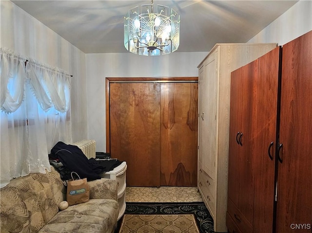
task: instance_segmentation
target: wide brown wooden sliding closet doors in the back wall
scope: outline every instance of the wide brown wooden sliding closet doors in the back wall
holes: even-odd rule
[[[107,78],[107,148],[127,161],[127,186],[196,186],[197,82]]]

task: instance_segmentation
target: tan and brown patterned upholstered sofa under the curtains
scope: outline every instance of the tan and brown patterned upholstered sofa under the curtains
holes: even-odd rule
[[[117,225],[118,181],[89,181],[90,200],[60,211],[66,188],[51,167],[0,189],[1,233],[112,233]]]

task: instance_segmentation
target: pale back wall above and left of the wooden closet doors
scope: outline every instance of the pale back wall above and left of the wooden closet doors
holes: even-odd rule
[[[207,54],[173,53],[154,57],[131,53],[86,54],[88,136],[96,140],[97,151],[106,151],[106,77],[195,77],[197,66]]]

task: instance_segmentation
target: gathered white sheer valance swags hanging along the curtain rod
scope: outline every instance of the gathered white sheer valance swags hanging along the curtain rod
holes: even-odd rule
[[[60,112],[68,110],[71,80],[69,73],[32,58],[26,59],[9,49],[1,48],[0,53],[0,108],[2,111],[11,113],[20,107],[24,99],[26,81],[30,83],[44,111],[51,107]]]

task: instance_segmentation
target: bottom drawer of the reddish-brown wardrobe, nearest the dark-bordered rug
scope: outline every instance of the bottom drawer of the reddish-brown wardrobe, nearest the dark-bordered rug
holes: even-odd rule
[[[253,232],[252,225],[248,222],[246,217],[236,208],[231,199],[228,199],[228,214],[242,233]]]

